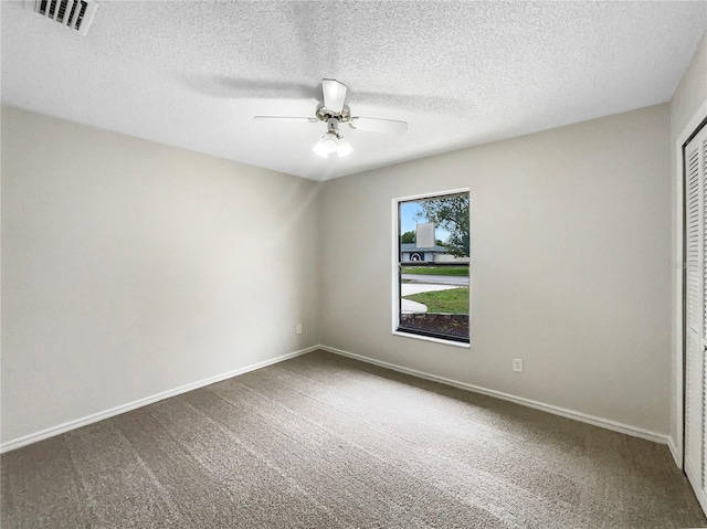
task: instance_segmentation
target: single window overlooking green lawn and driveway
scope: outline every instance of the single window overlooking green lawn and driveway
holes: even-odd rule
[[[469,342],[469,193],[393,201],[393,332]]]

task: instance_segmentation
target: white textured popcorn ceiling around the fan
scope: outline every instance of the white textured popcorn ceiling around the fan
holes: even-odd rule
[[[315,180],[668,100],[707,2],[102,1],[86,38],[0,2],[2,103]],[[352,114],[312,146],[323,77]]]

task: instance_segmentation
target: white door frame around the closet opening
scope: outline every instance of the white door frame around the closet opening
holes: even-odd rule
[[[686,248],[685,248],[685,147],[689,140],[707,126],[707,99],[699,106],[675,141],[675,255],[671,263],[673,274],[673,292],[675,305],[673,311],[673,359],[675,364],[675,417],[676,437],[668,437],[668,447],[675,464],[685,472],[685,287],[686,287]]]

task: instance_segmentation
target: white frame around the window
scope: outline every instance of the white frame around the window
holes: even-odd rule
[[[400,214],[400,209],[399,209],[399,204],[400,202],[410,202],[413,200],[423,200],[423,199],[433,199],[435,197],[445,197],[447,194],[461,194],[461,193],[468,193],[469,197],[469,215],[468,215],[468,232],[469,232],[469,236],[472,233],[472,215],[471,215],[471,209],[472,209],[472,192],[469,190],[469,188],[462,188],[462,189],[452,189],[452,190],[445,190],[445,191],[436,191],[436,192],[429,192],[429,193],[421,193],[421,194],[412,194],[409,197],[400,197],[397,199],[392,200],[392,263],[391,263],[391,271],[392,271],[392,334],[394,336],[400,336],[403,338],[411,338],[413,340],[422,340],[422,341],[432,341],[435,343],[443,343],[445,346],[452,346],[452,347],[461,347],[464,349],[469,349],[472,347],[472,262],[469,260],[468,263],[468,281],[469,281],[469,299],[468,299],[468,307],[469,307],[469,337],[468,337],[468,343],[463,342],[463,341],[455,341],[455,340],[445,340],[444,338],[435,338],[432,336],[423,336],[423,335],[414,335],[412,332],[402,332],[399,331],[398,328],[400,327],[400,273],[399,273],[399,258],[400,258],[400,219],[399,219],[399,214]]]

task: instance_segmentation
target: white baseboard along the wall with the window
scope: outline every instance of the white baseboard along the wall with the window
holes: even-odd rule
[[[525,399],[523,396],[516,396],[508,393],[503,393],[500,391],[482,388],[479,385],[467,384],[466,382],[460,382],[457,380],[446,379],[444,377],[437,377],[436,374],[425,373],[423,371],[418,371],[415,369],[403,368],[394,363],[383,362],[381,360],[376,360],[373,358],[363,357],[362,355],[356,355],[354,352],[344,351],[341,349],[335,349],[334,347],[320,346],[319,348],[325,351],[333,352],[335,355],[341,355],[344,357],[355,358],[356,360],[360,360],[362,362],[380,366],[381,368],[392,369],[393,371],[411,374],[413,377],[418,377],[421,379],[431,380],[433,382],[440,382],[442,384],[452,385],[454,388],[460,388],[467,391],[473,391],[475,393],[482,393],[488,396],[495,396],[497,399],[503,399],[505,401],[515,402],[516,404],[521,404],[524,406],[534,408],[536,410],[552,413],[553,415],[560,415],[562,417],[573,419],[574,421],[592,424],[594,426],[612,430],[614,432],[632,435],[634,437],[641,437],[647,441],[653,441],[655,443],[669,445],[669,437],[667,435],[664,435],[657,432],[652,432],[650,430],[640,429],[636,426],[631,426],[629,424],[623,424],[616,421],[612,421],[610,419],[597,417],[594,415],[589,415],[587,413],[577,412],[573,410],[567,410],[564,408],[555,406],[552,404],[545,404],[542,402],[532,401],[530,399]]]

